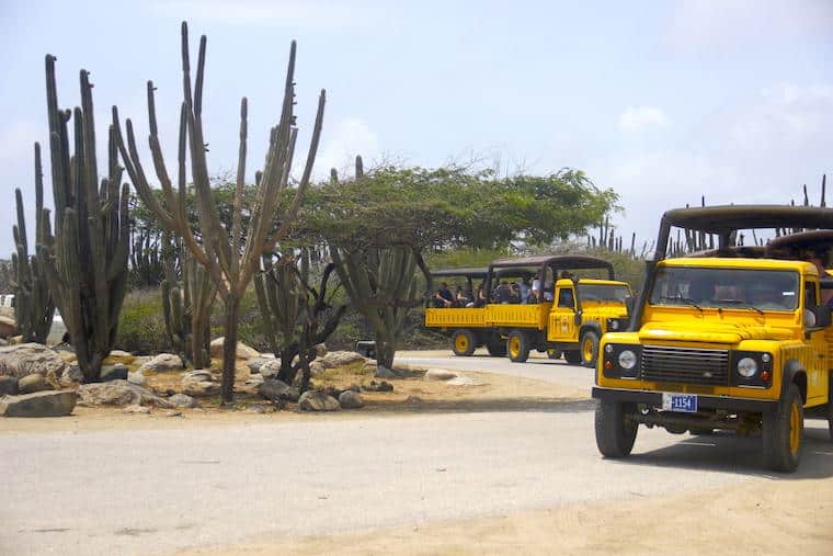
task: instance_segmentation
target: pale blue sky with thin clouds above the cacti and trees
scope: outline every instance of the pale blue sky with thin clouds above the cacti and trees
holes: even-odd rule
[[[319,175],[356,152],[421,166],[476,157],[504,172],[570,166],[620,193],[626,235],[652,237],[664,209],[703,193],[786,202],[833,170],[826,0],[0,0],[0,253],[12,249],[15,186],[33,217],[32,144],[47,141],[44,55],[58,57],[62,106],[79,102],[78,70],[92,72],[100,137],[112,104],[146,137],[153,79],[173,159],[183,19],[194,50],[208,35],[214,171],[236,163],[242,95],[251,173],[262,162],[292,38],[301,144],[317,90],[328,91]],[[50,186],[47,171],[47,202]]]

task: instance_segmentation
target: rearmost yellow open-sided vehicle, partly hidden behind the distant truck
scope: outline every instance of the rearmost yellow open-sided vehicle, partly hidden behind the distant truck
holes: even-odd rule
[[[491,325],[486,322],[486,299],[478,302],[478,285],[486,286],[489,269],[443,269],[431,273],[434,282],[456,282],[465,284],[465,291],[472,295],[470,307],[455,304],[453,307],[426,307],[425,327],[436,328],[452,337],[452,351],[455,355],[467,356],[486,345],[489,354],[506,354],[506,342]],[[429,304],[431,305],[431,299]]]

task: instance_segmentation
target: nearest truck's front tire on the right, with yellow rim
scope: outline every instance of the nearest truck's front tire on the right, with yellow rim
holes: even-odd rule
[[[798,386],[790,384],[775,411],[763,418],[764,461],[779,473],[798,468],[803,447],[805,408]]]

